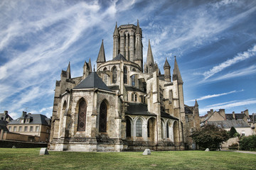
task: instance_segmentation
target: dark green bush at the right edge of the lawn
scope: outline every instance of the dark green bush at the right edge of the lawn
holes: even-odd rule
[[[256,151],[256,135],[242,137],[239,145],[241,150]]]

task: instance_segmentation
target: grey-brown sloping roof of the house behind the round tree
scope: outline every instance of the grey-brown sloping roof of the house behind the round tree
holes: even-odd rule
[[[245,120],[222,120],[222,121],[209,121],[208,124],[215,125],[220,128],[250,128]]]

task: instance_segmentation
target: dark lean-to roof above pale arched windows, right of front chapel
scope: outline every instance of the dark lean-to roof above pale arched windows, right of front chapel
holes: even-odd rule
[[[127,107],[127,115],[153,115],[154,113],[150,113],[147,109],[147,105],[144,103],[128,103]]]

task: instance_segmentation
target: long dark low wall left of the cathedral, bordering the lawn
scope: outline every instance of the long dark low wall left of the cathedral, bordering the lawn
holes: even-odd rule
[[[0,140],[0,147],[11,148],[15,146],[16,148],[31,148],[31,147],[47,147],[47,143],[38,142],[21,142],[13,140]]]

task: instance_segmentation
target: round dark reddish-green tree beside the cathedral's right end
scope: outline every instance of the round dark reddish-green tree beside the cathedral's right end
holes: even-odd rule
[[[192,139],[199,145],[199,149],[209,148],[210,150],[220,149],[220,144],[229,139],[228,132],[215,125],[205,125],[203,128],[195,130]]]

